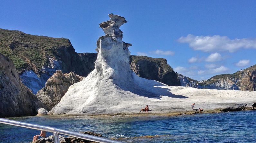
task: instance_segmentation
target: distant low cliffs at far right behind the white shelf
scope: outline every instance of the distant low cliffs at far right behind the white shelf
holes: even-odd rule
[[[205,81],[196,81],[180,74],[178,76],[181,80],[181,86],[201,89],[256,91],[256,65],[233,74],[215,75]]]

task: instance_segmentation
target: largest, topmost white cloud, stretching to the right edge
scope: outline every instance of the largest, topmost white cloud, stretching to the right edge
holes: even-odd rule
[[[189,34],[186,37],[180,37],[178,42],[188,43],[194,50],[200,50],[203,52],[235,52],[240,48],[256,49],[256,38],[236,38],[231,40],[227,36],[194,36]]]

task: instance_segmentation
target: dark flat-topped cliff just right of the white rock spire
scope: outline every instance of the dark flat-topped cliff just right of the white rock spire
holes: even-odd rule
[[[152,79],[169,86],[180,86],[180,79],[163,58],[130,56],[130,68],[139,77]]]

